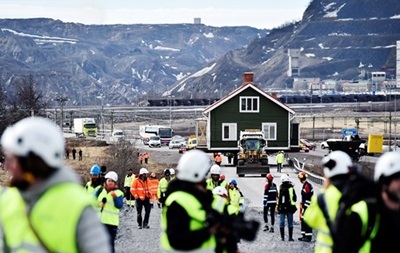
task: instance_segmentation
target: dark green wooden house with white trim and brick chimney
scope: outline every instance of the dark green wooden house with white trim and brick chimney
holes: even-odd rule
[[[295,112],[253,83],[253,73],[243,74],[243,84],[205,108],[197,121],[198,148],[208,152],[238,151],[240,131],[260,129],[269,153],[299,150],[299,124]]]

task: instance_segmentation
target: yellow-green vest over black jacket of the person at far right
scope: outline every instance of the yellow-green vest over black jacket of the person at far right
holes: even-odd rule
[[[380,216],[376,215],[375,217],[375,223],[374,227],[372,228],[372,231],[370,232],[370,235],[367,235],[367,229],[368,229],[368,219],[369,214],[368,214],[368,206],[367,203],[362,200],[360,202],[357,202],[356,204],[352,205],[350,210],[354,213],[357,213],[358,216],[361,219],[361,236],[366,237],[366,240],[360,250],[358,251],[359,253],[369,253],[371,251],[371,240],[375,238],[378,228],[379,228],[379,222],[380,222]]]

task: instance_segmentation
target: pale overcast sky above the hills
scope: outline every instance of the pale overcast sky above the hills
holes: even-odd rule
[[[0,0],[0,18],[83,24],[176,24],[274,28],[300,20],[311,0]]]

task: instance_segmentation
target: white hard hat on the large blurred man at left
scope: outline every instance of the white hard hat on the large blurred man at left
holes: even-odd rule
[[[8,127],[1,137],[3,149],[16,156],[30,152],[52,168],[64,165],[65,140],[60,128],[47,118],[29,117]]]

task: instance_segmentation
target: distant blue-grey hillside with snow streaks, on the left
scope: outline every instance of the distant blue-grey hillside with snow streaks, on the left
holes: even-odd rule
[[[267,30],[252,27],[83,25],[52,19],[0,19],[0,83],[11,97],[32,75],[68,105],[129,105],[160,96],[177,80]]]

